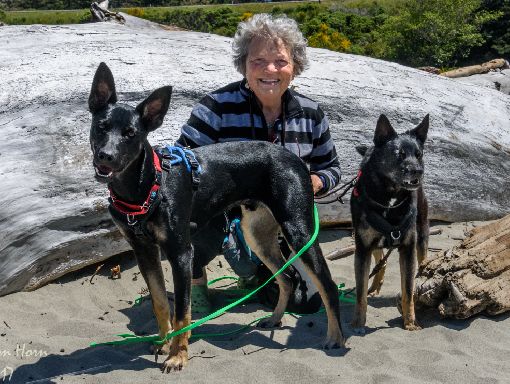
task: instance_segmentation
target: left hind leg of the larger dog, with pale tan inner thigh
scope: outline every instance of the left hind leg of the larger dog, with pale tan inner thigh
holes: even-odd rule
[[[244,239],[252,251],[274,274],[285,264],[278,244],[279,225],[269,209],[259,205],[255,211],[242,206],[241,228]],[[280,295],[271,317],[261,320],[257,326],[272,328],[279,326],[292,292],[292,282],[283,273],[276,276]]]

